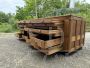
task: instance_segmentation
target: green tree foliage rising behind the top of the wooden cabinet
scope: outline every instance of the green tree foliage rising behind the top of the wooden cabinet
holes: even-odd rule
[[[24,7],[17,7],[16,18],[18,20],[41,18],[48,16],[59,16],[65,14],[75,14],[79,16],[87,16],[90,12],[90,4],[77,1],[76,8],[70,9],[70,0],[24,0]],[[87,8],[86,8],[87,7]],[[87,11],[86,11],[87,10]],[[90,14],[86,17],[89,21]]]

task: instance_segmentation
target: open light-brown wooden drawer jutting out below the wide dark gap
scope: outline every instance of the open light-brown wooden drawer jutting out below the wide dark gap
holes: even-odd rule
[[[44,36],[45,37],[45,36]],[[39,37],[32,37],[30,36],[30,44],[33,47],[39,47],[40,49],[46,49],[56,45],[62,45],[63,41],[62,38],[54,38],[54,39],[46,39],[46,38],[39,38]]]

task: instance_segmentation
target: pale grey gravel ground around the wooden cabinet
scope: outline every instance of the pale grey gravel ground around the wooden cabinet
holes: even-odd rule
[[[90,68],[90,33],[82,50],[70,56],[45,56],[17,40],[14,34],[0,33],[0,68]]]

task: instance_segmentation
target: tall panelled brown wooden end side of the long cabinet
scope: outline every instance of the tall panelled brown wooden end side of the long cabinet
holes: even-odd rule
[[[63,51],[73,52],[82,48],[85,39],[85,22],[82,18],[71,16],[64,23]]]

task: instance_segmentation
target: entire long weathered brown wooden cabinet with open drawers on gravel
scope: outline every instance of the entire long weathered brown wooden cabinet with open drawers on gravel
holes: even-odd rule
[[[84,45],[85,21],[81,17],[67,15],[26,20],[20,21],[18,27],[19,39],[46,55],[71,53]]]

